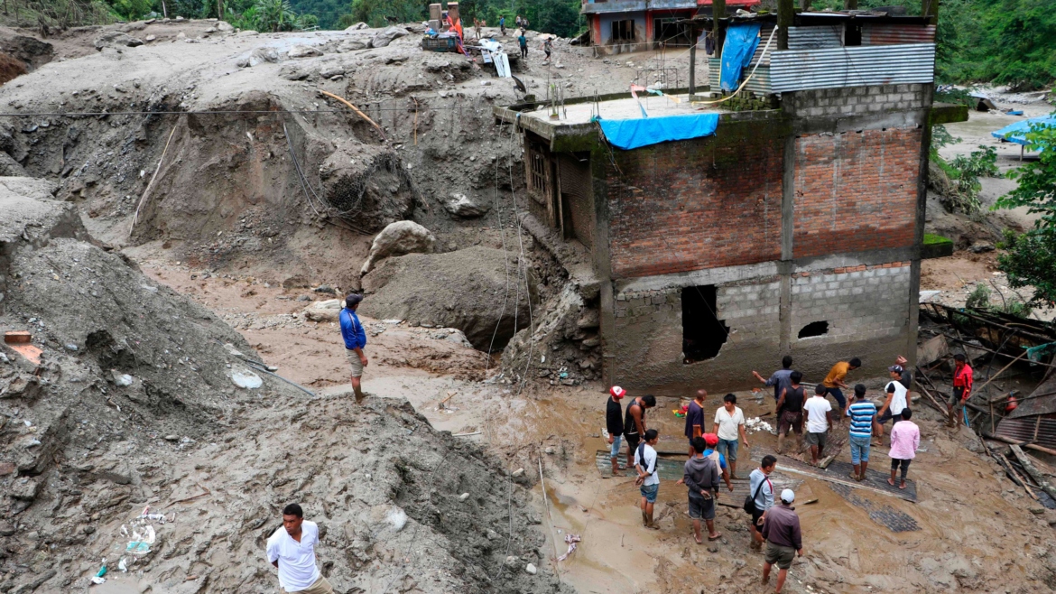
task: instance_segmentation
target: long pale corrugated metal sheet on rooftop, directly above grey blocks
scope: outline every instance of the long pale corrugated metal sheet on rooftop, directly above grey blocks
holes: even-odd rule
[[[935,43],[775,52],[773,92],[935,80]]]

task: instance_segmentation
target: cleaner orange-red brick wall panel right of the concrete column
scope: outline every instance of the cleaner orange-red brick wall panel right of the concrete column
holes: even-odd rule
[[[921,130],[796,138],[796,258],[913,244]]]

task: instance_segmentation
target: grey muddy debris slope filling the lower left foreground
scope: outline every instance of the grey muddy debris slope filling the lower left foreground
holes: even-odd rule
[[[0,330],[32,335],[0,347],[0,592],[87,591],[103,558],[139,591],[274,590],[290,501],[343,592],[561,591],[509,469],[406,401],[270,375],[53,191],[0,178]]]

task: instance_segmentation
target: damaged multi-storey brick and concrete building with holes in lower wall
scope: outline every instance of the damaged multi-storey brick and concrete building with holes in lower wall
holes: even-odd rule
[[[605,382],[681,393],[758,385],[751,371],[785,354],[809,382],[854,356],[862,377],[913,357],[930,126],[967,117],[932,104],[937,17],[782,0],[720,23],[720,51],[725,26],[759,30],[750,96],[495,109],[523,134],[526,227],[591,264],[566,267],[598,289]],[[602,133],[709,113],[710,135],[621,149]]]

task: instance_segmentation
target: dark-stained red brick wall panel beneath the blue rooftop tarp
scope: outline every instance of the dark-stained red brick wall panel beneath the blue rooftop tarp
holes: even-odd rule
[[[719,134],[614,152],[612,278],[780,258],[784,138]]]

